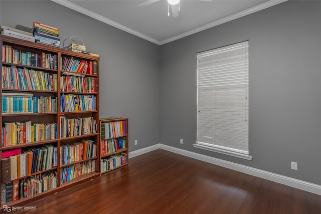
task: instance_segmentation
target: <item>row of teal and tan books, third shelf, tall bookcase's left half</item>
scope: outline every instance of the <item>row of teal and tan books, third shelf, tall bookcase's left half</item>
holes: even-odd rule
[[[57,112],[57,97],[24,93],[2,93],[2,113],[48,113]]]

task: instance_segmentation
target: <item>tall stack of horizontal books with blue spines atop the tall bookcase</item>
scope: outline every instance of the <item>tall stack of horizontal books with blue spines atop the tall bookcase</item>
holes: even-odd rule
[[[34,22],[32,33],[36,43],[60,48],[60,39],[58,38],[59,33],[57,28]]]

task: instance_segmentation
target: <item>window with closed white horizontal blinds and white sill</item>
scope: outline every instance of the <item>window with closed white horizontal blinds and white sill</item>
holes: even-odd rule
[[[248,41],[197,54],[194,147],[251,160]]]

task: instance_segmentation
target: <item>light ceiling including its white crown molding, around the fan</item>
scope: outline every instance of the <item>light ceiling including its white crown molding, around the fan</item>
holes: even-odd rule
[[[179,16],[168,16],[166,0],[145,7],[138,0],[52,0],[157,45],[192,35],[286,0],[181,0]],[[171,11],[170,11],[171,13]]]

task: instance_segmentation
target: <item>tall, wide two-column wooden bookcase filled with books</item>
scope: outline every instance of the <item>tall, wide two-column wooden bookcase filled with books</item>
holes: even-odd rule
[[[1,208],[3,205],[23,205],[98,177],[99,57],[3,35],[0,36],[0,41],[1,47],[9,46],[12,51],[9,53],[10,48],[2,49],[2,53],[5,51],[7,55],[14,56],[9,62],[6,57],[1,61],[1,186],[5,187],[8,195],[15,193],[14,197],[17,198],[17,188],[20,189],[18,194],[22,194],[18,195],[18,199],[1,202]],[[27,55],[27,62],[17,62],[17,56],[24,53],[31,53],[31,58]],[[70,71],[65,67],[66,59],[83,60],[89,66],[93,64],[92,74],[79,73],[80,70],[77,69],[75,71],[79,72]],[[22,61],[24,60],[23,58]],[[32,106],[29,106],[31,103]],[[23,130],[18,131],[17,128]],[[17,150],[18,155],[12,155],[18,160],[10,157],[11,160],[8,161],[8,158],[3,158]],[[28,158],[30,151],[33,153],[33,159]],[[38,160],[34,159],[35,156]],[[26,165],[23,164],[25,161]],[[13,164],[10,165],[11,163]],[[38,185],[29,188],[35,182],[38,182]]]

